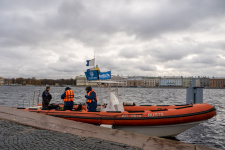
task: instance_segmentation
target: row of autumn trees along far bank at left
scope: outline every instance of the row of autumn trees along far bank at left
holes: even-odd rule
[[[20,84],[20,85],[76,85],[75,79],[36,79],[33,78],[5,78],[5,84]]]

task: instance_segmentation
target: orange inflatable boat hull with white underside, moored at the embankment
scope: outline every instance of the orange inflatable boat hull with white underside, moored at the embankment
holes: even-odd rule
[[[24,109],[30,112],[80,121],[95,125],[111,125],[114,128],[138,132],[150,136],[176,136],[179,133],[212,118],[216,109],[210,104],[182,106],[124,106],[125,111],[87,112],[85,106],[75,110]]]

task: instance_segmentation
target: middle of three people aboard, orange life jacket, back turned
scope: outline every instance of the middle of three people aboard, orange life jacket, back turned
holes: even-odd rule
[[[70,87],[66,87],[65,92],[61,95],[61,99],[64,102],[64,110],[72,110],[73,109],[73,98],[74,92]]]

